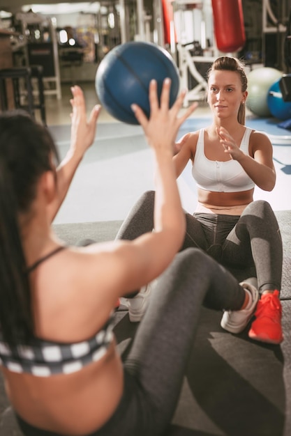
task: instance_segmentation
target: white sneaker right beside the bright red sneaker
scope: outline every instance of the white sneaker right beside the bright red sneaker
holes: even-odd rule
[[[241,311],[225,311],[223,313],[223,318],[221,319],[221,327],[231,333],[240,333],[244,330],[248,321],[251,320],[253,313],[255,313],[255,308],[258,303],[259,293],[258,289],[253,286],[255,279],[247,279],[240,283],[240,285],[249,291],[251,294],[251,302],[248,302],[246,309]]]

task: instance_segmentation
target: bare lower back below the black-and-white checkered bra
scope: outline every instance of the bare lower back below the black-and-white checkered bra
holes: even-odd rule
[[[81,436],[102,427],[116,410],[124,389],[121,359],[107,354],[70,375],[35,377],[3,368],[6,391],[15,411],[33,426]]]

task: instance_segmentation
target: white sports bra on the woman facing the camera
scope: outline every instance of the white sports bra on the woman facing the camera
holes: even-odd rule
[[[252,129],[246,127],[241,139],[240,149],[248,153],[248,143]],[[199,132],[192,175],[197,187],[212,192],[241,192],[255,187],[255,183],[248,177],[246,171],[236,160],[220,162],[210,160],[204,154],[204,129]]]

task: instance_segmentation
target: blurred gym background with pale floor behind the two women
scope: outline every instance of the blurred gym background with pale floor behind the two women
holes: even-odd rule
[[[61,156],[70,140],[70,87],[82,87],[90,111],[98,103],[98,65],[117,45],[152,42],[172,56],[181,87],[188,88],[184,107],[199,102],[181,134],[209,124],[205,93],[212,61],[224,54],[242,59],[246,124],[270,135],[277,171],[276,189],[256,189],[255,198],[274,210],[291,209],[291,0],[0,1],[0,111],[27,109],[50,128]],[[105,109],[98,124],[55,222],[124,219],[140,194],[153,189],[140,126],[121,123]],[[193,212],[189,166],[178,182],[184,207]]]

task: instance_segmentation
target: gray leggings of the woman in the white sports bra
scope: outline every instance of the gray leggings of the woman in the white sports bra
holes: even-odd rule
[[[117,239],[133,240],[154,228],[154,191],[145,192],[121,226]],[[253,201],[241,216],[186,213],[181,250],[197,247],[239,281],[258,278],[258,288],[281,290],[283,247],[278,222],[267,201]]]

